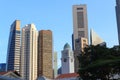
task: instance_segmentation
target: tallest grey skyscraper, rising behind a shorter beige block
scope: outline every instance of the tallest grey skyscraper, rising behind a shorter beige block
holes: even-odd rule
[[[88,39],[88,22],[86,5],[73,5],[73,48],[75,41],[84,37]]]

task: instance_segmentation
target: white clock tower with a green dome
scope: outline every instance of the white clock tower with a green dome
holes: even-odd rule
[[[62,74],[74,73],[74,55],[70,45],[66,43],[62,50]]]

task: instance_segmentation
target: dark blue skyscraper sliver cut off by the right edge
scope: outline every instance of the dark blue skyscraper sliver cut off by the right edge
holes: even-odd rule
[[[118,41],[120,45],[120,0],[116,0],[116,17],[117,17],[117,28],[118,28]]]

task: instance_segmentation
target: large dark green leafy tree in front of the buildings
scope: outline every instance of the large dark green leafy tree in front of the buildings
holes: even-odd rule
[[[120,74],[120,47],[90,45],[78,59],[78,73],[83,80],[109,80],[114,74]]]

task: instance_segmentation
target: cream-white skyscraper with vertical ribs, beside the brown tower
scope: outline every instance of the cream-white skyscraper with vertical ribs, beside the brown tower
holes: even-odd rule
[[[22,28],[20,74],[24,80],[37,79],[38,31],[34,24]]]

